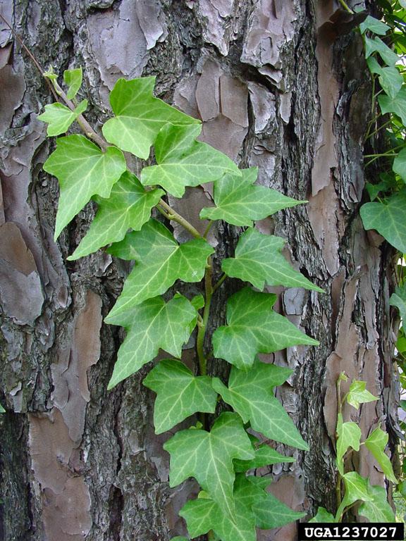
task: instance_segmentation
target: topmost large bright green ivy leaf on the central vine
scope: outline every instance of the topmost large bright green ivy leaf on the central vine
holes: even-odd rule
[[[155,77],[126,81],[118,79],[110,94],[114,118],[102,130],[109,143],[146,160],[149,147],[167,123],[195,124],[199,120],[185,115],[153,95]]]

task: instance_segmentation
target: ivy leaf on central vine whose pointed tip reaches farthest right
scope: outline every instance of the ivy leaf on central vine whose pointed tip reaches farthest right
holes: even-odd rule
[[[221,268],[231,278],[251,282],[259,290],[267,284],[323,292],[290,266],[281,254],[284,244],[281,237],[262,235],[256,229],[248,229],[238,240],[235,257],[224,259]]]

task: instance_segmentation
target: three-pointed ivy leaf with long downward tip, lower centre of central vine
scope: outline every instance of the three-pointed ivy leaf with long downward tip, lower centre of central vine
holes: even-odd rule
[[[233,459],[254,458],[250,438],[236,413],[221,413],[211,432],[181,430],[164,449],[171,454],[171,487],[194,477],[223,513],[235,516]]]

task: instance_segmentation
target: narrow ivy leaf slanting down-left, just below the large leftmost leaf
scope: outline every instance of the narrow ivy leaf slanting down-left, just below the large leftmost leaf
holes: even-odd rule
[[[145,191],[137,177],[125,171],[113,185],[109,199],[96,198],[99,206],[97,214],[89,231],[68,259],[73,261],[106,244],[118,242],[129,229],[140,230],[162,195],[164,191],[161,189]]]

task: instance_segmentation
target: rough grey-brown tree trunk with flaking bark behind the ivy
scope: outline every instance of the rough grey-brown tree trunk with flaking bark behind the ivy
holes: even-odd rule
[[[118,77],[156,75],[156,94],[202,118],[206,142],[258,166],[262,184],[309,200],[257,224],[285,237],[288,259],[326,291],[278,290],[278,309],[321,342],[274,356],[294,370],[278,396],[311,451],[274,466],[271,490],[309,516],[336,505],[340,371],[381,397],[361,409],[363,435],[379,420],[397,430],[391,254],[358,213],[369,77],[361,39],[338,9],[334,0],[0,0],[42,66],[83,66],[96,127]],[[154,435],[146,371],[106,392],[123,335],[102,318],[128,268],[102,251],[66,261],[92,205],[54,242],[58,187],[42,171],[54,143],[37,120],[51,95],[3,23],[0,46],[0,539],[167,541],[185,533],[178,511],[196,485],[168,488],[168,434]],[[193,194],[180,210],[199,223],[210,196]],[[221,254],[233,253],[239,233],[214,232]],[[214,299],[216,322],[233,288],[230,280]],[[363,452],[355,466],[384,484]],[[259,539],[293,540],[295,528]]]

